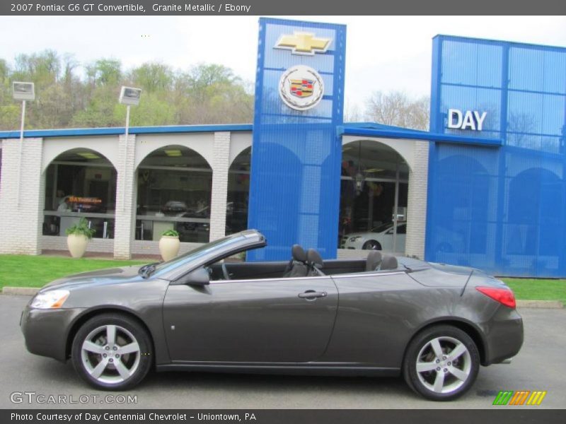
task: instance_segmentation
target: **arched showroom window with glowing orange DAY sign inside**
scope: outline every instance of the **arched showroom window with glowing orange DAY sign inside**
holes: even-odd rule
[[[103,155],[86,148],[66,151],[45,171],[43,235],[88,220],[93,237],[113,238],[116,208],[116,170]]]

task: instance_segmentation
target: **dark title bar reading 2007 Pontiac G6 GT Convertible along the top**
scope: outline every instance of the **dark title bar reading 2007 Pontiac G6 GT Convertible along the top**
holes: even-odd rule
[[[2,0],[8,16],[562,15],[564,0]]]

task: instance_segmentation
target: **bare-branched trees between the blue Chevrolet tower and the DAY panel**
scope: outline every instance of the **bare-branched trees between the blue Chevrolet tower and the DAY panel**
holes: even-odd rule
[[[429,98],[411,99],[403,92],[374,92],[366,103],[366,119],[403,128],[429,129]]]

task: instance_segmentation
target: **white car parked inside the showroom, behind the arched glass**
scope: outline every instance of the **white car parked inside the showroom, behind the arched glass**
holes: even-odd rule
[[[395,251],[405,252],[407,223],[397,224]],[[385,223],[369,232],[352,232],[342,236],[340,249],[386,250],[393,252],[393,223]]]

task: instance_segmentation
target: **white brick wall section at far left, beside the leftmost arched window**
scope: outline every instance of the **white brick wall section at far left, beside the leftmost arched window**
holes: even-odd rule
[[[42,139],[2,143],[0,253],[40,254],[45,194],[42,192]]]

